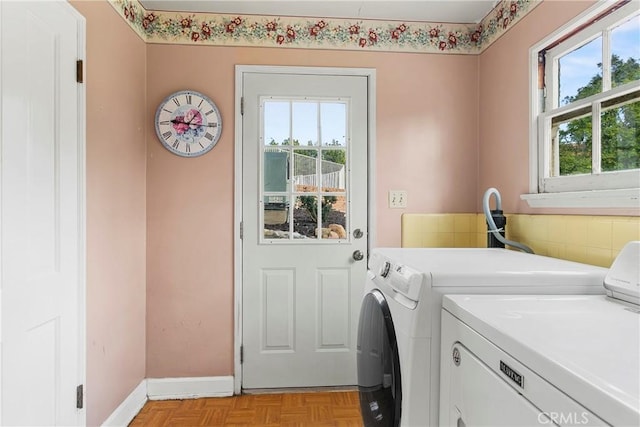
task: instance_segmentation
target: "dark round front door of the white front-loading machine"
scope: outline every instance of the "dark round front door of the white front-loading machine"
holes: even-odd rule
[[[402,388],[396,333],[384,295],[365,295],[358,323],[358,391],[365,426],[400,425]]]

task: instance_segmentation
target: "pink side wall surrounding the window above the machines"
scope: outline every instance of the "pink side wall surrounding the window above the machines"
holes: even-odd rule
[[[496,187],[508,213],[637,215],[634,209],[533,209],[529,192],[529,48],[593,1],[547,0],[480,55],[480,179],[476,195]]]

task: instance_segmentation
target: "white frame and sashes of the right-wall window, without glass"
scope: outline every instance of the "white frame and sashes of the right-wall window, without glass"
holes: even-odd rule
[[[569,176],[551,175],[551,121],[554,117],[591,108],[594,118],[594,135],[600,129],[600,105],[610,99],[633,93],[640,89],[640,82],[610,88],[611,68],[610,46],[603,39],[603,91],[558,107],[558,59],[597,38],[603,31],[610,34],[609,29],[620,22],[636,15],[633,2],[629,2],[606,16],[596,18],[612,7],[611,2],[600,1],[572,21],[550,34],[529,50],[530,81],[530,194],[521,195],[532,207],[638,207],[640,206],[640,170],[600,172],[599,136],[594,138],[593,148],[598,154],[593,156],[596,173]],[[584,27],[581,29],[581,27]],[[551,47],[550,47],[551,46]],[[549,48],[550,47],[550,48]],[[547,50],[546,64],[541,62],[539,53]],[[547,78],[546,89],[539,88],[540,68],[545,68]],[[547,93],[545,94],[545,90]],[[546,96],[544,96],[546,95]],[[546,104],[546,105],[545,105]],[[545,108],[546,107],[546,108]],[[546,111],[545,111],[546,109]],[[596,129],[597,128],[597,129]]]

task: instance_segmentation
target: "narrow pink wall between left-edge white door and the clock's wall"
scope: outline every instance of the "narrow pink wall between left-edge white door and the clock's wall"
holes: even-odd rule
[[[87,424],[145,377],[145,44],[106,2],[87,20]]]

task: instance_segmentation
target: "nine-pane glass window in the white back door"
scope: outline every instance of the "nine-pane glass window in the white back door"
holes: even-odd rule
[[[261,110],[261,241],[346,239],[348,101],[263,97]]]

